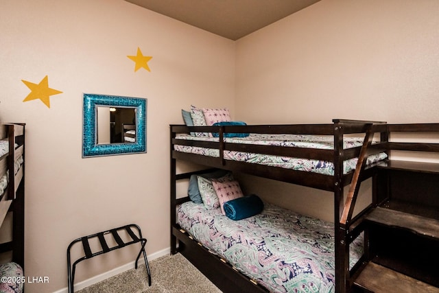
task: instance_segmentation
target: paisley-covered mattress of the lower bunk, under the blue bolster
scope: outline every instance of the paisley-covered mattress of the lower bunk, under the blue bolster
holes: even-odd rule
[[[230,220],[220,209],[185,202],[178,224],[211,252],[270,292],[335,292],[334,226],[265,203],[261,213]],[[350,247],[351,266],[363,239]]]

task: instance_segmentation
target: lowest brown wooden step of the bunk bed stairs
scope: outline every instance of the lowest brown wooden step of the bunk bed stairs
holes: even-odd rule
[[[439,293],[439,288],[372,262],[364,268],[355,284],[375,293]]]

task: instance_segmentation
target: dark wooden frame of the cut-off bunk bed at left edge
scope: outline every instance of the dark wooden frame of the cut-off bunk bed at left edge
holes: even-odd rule
[[[3,124],[9,142],[9,152],[0,157],[0,164],[9,171],[9,183],[0,195],[0,226],[6,215],[12,212],[12,240],[0,244],[0,253],[12,251],[12,261],[18,263],[24,271],[24,209],[25,209],[25,172],[24,163],[19,172],[14,174],[14,161],[25,156],[25,124]],[[15,145],[18,145],[15,147]]]

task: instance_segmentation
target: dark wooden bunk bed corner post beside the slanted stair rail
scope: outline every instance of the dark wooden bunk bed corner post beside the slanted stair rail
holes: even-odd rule
[[[335,292],[346,293],[348,279],[348,259],[346,250],[346,231],[340,226],[340,215],[344,207],[343,186],[343,123],[337,119],[334,123],[334,235],[335,235]]]

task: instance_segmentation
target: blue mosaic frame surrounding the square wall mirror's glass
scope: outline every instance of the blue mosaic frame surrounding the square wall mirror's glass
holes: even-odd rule
[[[134,143],[97,143],[97,106],[134,108],[136,141]],[[147,99],[117,95],[83,94],[82,157],[111,156],[146,152]]]

